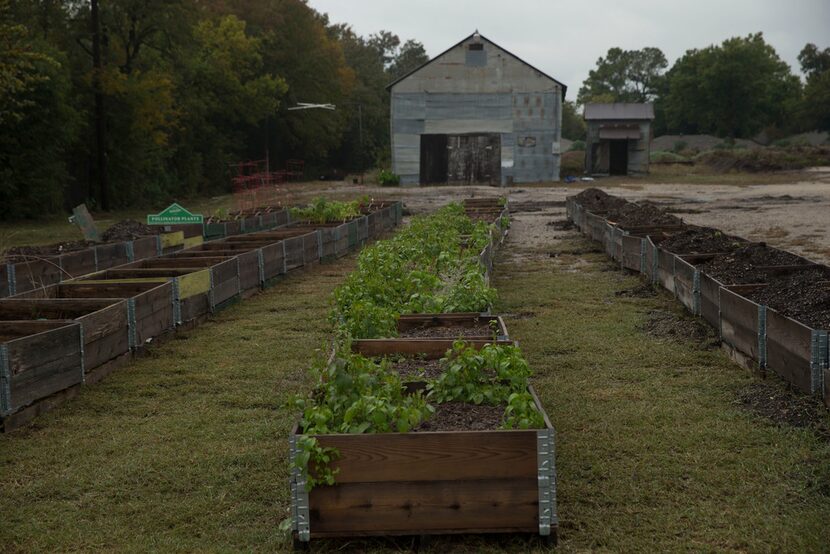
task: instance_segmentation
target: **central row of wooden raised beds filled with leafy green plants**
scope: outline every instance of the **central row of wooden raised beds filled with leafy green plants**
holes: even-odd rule
[[[490,313],[497,199],[413,218],[334,292],[331,356],[297,398],[295,546],[326,537],[556,536],[553,427]],[[288,523],[288,522],[287,522]]]

